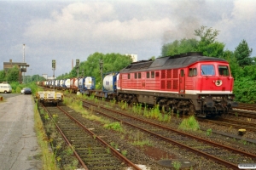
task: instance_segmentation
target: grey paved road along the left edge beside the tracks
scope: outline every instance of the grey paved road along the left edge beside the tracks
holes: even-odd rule
[[[0,170],[42,169],[32,95],[0,95]]]

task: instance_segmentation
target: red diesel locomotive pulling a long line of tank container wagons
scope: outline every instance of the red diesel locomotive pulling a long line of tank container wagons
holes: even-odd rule
[[[95,90],[93,77],[39,83],[201,117],[221,116],[237,105],[229,63],[195,52],[133,62],[104,75],[102,90]]]

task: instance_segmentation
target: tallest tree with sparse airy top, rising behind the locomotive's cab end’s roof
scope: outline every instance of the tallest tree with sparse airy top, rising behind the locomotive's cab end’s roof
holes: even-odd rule
[[[201,26],[200,29],[195,30],[195,36],[200,37],[200,41],[196,48],[197,51],[202,52],[203,55],[209,57],[220,57],[224,53],[224,43],[217,42],[217,30]]]

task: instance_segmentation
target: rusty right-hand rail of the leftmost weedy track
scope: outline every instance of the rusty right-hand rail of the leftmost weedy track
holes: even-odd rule
[[[90,135],[94,138],[97,139],[98,141],[100,141],[104,146],[108,147],[114,156],[118,157],[120,161],[123,161],[126,163],[126,165],[133,167],[136,170],[141,170],[140,167],[137,167],[137,165],[135,165],[134,163],[132,163],[129,159],[127,159],[125,156],[123,156],[122,154],[120,154],[117,150],[115,150],[111,145],[109,145],[108,143],[106,143],[104,140],[102,140],[101,138],[99,138],[98,136],[96,136],[95,133],[91,132],[90,129],[88,129],[87,127],[84,127],[84,125],[79,122],[78,120],[76,120],[73,116],[69,115],[67,113],[67,111],[64,111],[60,106],[57,106],[57,108],[59,108],[61,111],[63,111],[63,113],[65,113],[71,120],[73,120],[73,122],[77,123],[80,127],[82,127],[84,129],[84,131],[86,131],[87,133],[90,133]]]

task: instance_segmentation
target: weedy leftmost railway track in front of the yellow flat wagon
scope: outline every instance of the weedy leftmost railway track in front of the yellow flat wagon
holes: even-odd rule
[[[84,169],[140,169],[61,107],[44,107]]]

